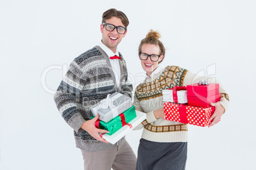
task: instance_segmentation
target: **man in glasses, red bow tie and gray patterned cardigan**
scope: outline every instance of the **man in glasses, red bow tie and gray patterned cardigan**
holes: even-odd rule
[[[117,49],[128,25],[129,20],[122,11],[105,11],[100,45],[75,58],[54,96],[60,114],[74,129],[76,147],[82,151],[85,169],[136,167],[136,156],[125,138],[115,145],[108,143],[99,135],[108,131],[95,126],[99,115],[90,120],[90,107],[108,94],[117,91],[132,96],[125,61]]]

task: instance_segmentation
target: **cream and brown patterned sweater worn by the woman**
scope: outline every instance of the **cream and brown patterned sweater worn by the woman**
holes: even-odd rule
[[[174,86],[187,86],[203,79],[208,79],[208,77],[200,77],[177,66],[167,66],[160,70],[159,73],[146,78],[143,83],[136,87],[134,94],[134,105],[139,111],[146,113],[146,119],[134,129],[143,128],[142,138],[145,140],[156,142],[186,142],[187,124],[167,121],[162,118],[155,119],[153,111],[163,107],[163,89],[173,88]],[[208,79],[208,81],[220,84],[215,79]],[[229,95],[225,93],[221,84],[220,94],[222,98],[219,102],[226,110],[229,104]]]

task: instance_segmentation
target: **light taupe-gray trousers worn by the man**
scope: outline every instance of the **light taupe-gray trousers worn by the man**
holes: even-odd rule
[[[136,155],[126,140],[121,145],[108,150],[97,152],[81,151],[86,170],[136,169]]]

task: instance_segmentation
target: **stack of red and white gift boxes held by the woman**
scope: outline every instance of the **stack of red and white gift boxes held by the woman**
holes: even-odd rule
[[[208,126],[215,107],[210,103],[220,101],[219,84],[200,81],[186,87],[163,90],[164,115],[169,121],[196,126]]]

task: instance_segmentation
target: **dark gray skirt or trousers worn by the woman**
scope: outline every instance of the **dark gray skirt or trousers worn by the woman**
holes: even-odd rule
[[[187,142],[139,141],[137,170],[184,170],[187,161]]]

